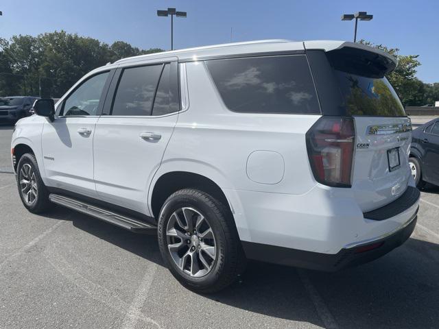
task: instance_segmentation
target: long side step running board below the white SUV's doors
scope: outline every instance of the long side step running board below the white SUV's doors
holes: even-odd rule
[[[49,200],[51,202],[54,202],[54,204],[59,204],[60,206],[82,212],[86,215],[101,219],[102,221],[106,221],[131,232],[156,234],[157,227],[152,224],[119,215],[115,212],[111,212],[109,210],[93,206],[91,204],[86,204],[77,199],[72,199],[71,197],[64,197],[63,195],[58,194],[50,194]]]

